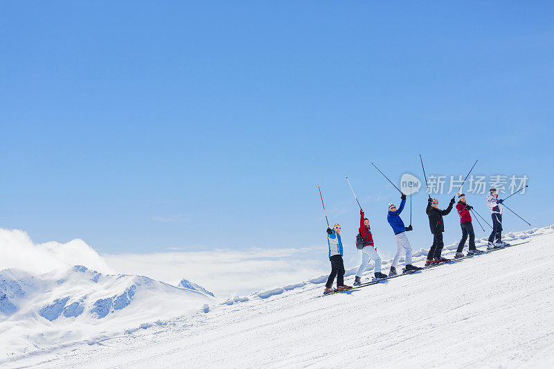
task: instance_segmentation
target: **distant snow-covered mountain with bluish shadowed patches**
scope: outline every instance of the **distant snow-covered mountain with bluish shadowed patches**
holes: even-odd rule
[[[37,276],[5,269],[0,271],[0,355],[121,332],[212,301],[193,289],[143,276],[104,275],[82,265]]]

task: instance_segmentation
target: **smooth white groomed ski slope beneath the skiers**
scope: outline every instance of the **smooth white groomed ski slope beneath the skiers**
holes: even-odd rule
[[[554,226],[506,240],[530,242],[323,298],[312,278],[119,334],[45,337],[0,366],[554,368]]]

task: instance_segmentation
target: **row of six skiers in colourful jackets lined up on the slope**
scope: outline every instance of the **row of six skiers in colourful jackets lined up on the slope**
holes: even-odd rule
[[[492,233],[490,233],[488,239],[488,249],[506,246],[508,244],[506,244],[506,242],[502,242],[501,240],[503,200],[498,198],[497,189],[494,187],[490,188],[490,194],[487,195],[485,199],[487,202],[487,206],[491,212],[493,224]],[[448,215],[452,211],[455,202],[456,196],[452,197],[448,207],[445,210],[440,210],[440,208],[438,208],[438,200],[433,199],[431,198],[431,196],[429,196],[425,213],[427,213],[427,216],[429,217],[429,228],[431,229],[431,234],[433,235],[433,244],[429,249],[429,253],[427,254],[427,260],[425,262],[426,266],[431,264],[441,264],[443,262],[449,261],[448,259],[441,256],[444,247],[443,233],[445,231],[443,216]],[[405,204],[406,195],[404,195],[403,193],[400,201],[400,206],[398,208],[396,208],[394,204],[388,204],[388,213],[386,219],[388,221],[388,224],[391,225],[391,228],[393,228],[397,244],[397,252],[395,257],[393,258],[391,270],[388,273],[389,277],[397,275],[396,268],[400,260],[400,255],[402,254],[402,251],[404,251],[405,254],[404,272],[418,271],[422,269],[421,267],[415,267],[411,264],[412,249],[408,237],[406,237],[406,232],[412,231],[413,228],[411,224],[406,227],[404,225],[404,222],[402,222],[402,218],[400,218],[400,213],[402,213],[402,210],[404,210]],[[454,256],[454,258],[461,258],[464,256],[462,253],[463,246],[465,245],[468,237],[470,239],[468,254],[474,255],[477,253],[483,253],[483,251],[480,251],[475,246],[475,232],[473,230],[472,216],[470,213],[470,210],[472,210],[472,208],[472,206],[467,204],[465,194],[458,194],[458,204],[456,204],[456,210],[458,211],[458,215],[460,216],[462,238],[458,244],[458,249],[456,250],[456,255]],[[366,271],[366,267],[370,260],[373,260],[375,264],[375,278],[381,279],[387,277],[386,274],[382,273],[381,271],[381,256],[377,252],[377,247],[375,247],[375,244],[373,242],[373,235],[370,231],[369,219],[365,217],[364,210],[362,210],[361,208],[359,213],[360,225],[359,233],[356,237],[356,246],[357,249],[361,249],[361,264],[356,273],[356,278],[354,281],[355,286],[361,285],[361,276],[364,271]],[[323,291],[324,294],[329,294],[330,292],[334,291],[334,289],[332,289],[332,285],[335,278],[337,278],[337,291],[343,291],[352,288],[351,286],[344,284],[345,270],[342,259],[343,246],[340,235],[340,224],[334,224],[333,228],[328,227],[327,233],[329,245],[329,260],[331,261],[331,273],[329,275],[327,283],[325,284],[325,290]]]

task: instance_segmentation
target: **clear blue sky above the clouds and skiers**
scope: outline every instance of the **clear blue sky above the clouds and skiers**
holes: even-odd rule
[[[476,174],[526,174],[510,207],[552,224],[553,10],[3,2],[0,224],[100,253],[321,245],[325,262],[316,185],[352,245],[348,174],[390,257],[398,195],[370,162],[398,181],[421,177],[419,154],[427,174],[476,159]],[[468,201],[489,219],[483,196]],[[425,205],[413,197],[414,249],[431,244]],[[504,228],[529,227],[506,213]]]

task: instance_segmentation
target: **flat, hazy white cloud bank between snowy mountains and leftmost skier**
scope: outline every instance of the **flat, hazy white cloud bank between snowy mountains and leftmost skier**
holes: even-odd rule
[[[226,298],[233,294],[282,287],[328,273],[330,267],[325,262],[325,253],[326,249],[321,251],[321,247],[305,247],[107,254],[103,257],[117,273],[141,274],[172,285],[187,278],[213,291],[216,296]]]

